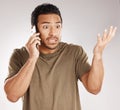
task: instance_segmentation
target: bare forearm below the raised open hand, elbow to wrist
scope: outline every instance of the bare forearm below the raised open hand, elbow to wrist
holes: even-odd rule
[[[94,55],[91,70],[87,78],[87,86],[91,92],[98,93],[101,89],[104,77],[102,57]]]

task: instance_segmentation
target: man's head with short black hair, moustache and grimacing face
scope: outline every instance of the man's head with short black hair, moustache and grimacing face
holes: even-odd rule
[[[62,17],[52,4],[37,6],[32,12],[31,24],[40,33],[41,50],[54,51],[61,40]]]

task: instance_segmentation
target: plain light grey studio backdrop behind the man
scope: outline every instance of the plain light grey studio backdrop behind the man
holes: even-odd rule
[[[119,0],[0,0],[0,108],[21,110],[22,101],[9,102],[3,90],[10,55],[30,35],[30,15],[43,2],[57,5],[63,17],[62,41],[82,45],[91,63],[97,34],[117,26],[115,38],[106,47],[105,77],[98,95],[88,93],[79,82],[82,110],[120,110],[120,1]]]

